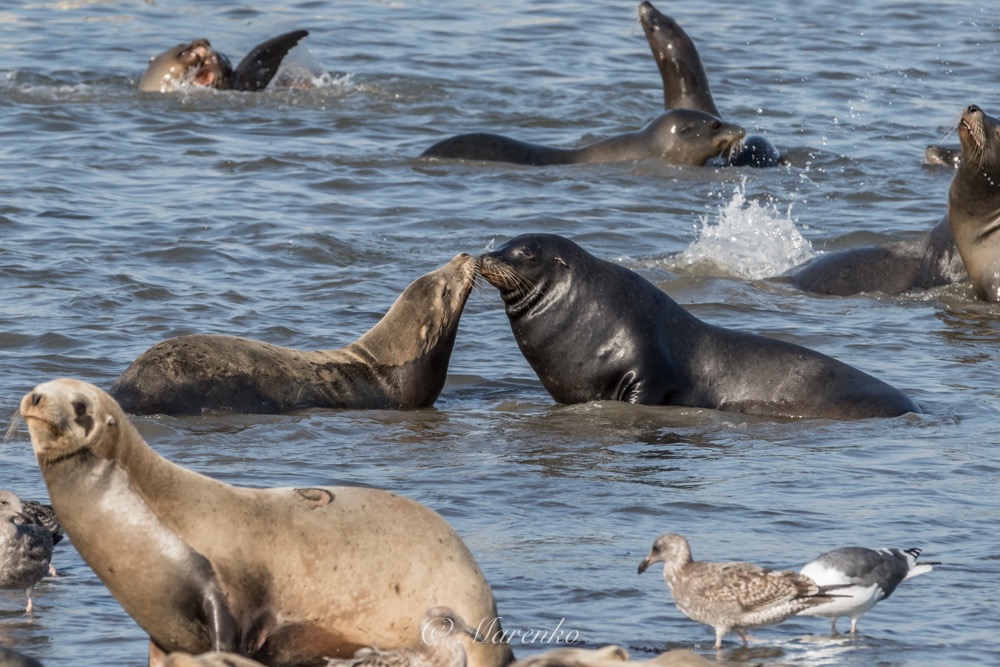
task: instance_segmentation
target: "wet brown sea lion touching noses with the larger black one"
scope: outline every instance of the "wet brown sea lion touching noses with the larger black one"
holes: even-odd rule
[[[139,355],[110,393],[140,415],[428,407],[448,377],[475,275],[475,260],[456,255],[411,283],[368,333],[336,350],[235,336],[171,338]]]

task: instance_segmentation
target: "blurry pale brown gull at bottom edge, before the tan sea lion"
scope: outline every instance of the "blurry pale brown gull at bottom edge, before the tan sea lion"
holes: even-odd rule
[[[418,646],[391,651],[363,648],[347,660],[328,658],[327,667],[465,667],[459,635],[484,641],[449,607],[431,607],[420,620]]]

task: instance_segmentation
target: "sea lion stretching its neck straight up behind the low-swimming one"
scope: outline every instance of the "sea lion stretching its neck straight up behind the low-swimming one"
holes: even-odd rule
[[[657,10],[651,2],[639,3],[639,23],[663,79],[664,108],[698,109],[722,118],[712,99],[708,75],[694,41],[676,21]],[[766,137],[751,136],[738,152],[729,156],[728,164],[774,167],[781,164],[781,156]]]

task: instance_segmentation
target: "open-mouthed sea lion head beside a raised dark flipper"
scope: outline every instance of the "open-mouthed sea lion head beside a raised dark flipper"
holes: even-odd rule
[[[225,89],[232,78],[229,59],[207,39],[196,39],[153,57],[139,81],[139,90],[165,93],[184,85]]]

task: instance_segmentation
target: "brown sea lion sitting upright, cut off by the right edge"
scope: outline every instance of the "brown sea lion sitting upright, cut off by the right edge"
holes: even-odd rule
[[[948,224],[976,296],[1000,301],[1000,119],[970,104],[958,138],[962,160],[948,190]]]

